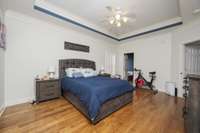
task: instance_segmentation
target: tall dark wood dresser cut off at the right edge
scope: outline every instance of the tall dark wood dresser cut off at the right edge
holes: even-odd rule
[[[186,133],[200,133],[200,75],[188,75],[184,78],[183,108]]]

